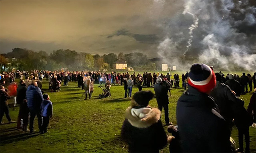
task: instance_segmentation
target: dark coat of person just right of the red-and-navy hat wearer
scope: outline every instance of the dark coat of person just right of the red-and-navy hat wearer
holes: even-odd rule
[[[237,98],[230,88],[219,81],[216,82],[215,88],[211,92],[211,96],[218,105],[220,115],[230,124],[237,113],[236,109],[244,104],[244,102]]]

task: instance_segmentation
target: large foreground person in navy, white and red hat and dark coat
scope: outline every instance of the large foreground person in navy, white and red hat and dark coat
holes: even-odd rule
[[[209,96],[216,85],[214,72],[208,65],[194,64],[188,84],[176,107],[182,152],[230,152],[228,124]]]

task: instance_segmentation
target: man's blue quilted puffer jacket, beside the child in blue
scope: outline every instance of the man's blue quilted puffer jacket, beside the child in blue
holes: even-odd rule
[[[26,98],[28,108],[32,111],[39,111],[41,102],[43,101],[43,95],[41,89],[38,86],[29,85],[26,91]]]

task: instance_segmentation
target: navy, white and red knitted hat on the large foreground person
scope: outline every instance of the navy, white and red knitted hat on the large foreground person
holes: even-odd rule
[[[215,74],[208,65],[192,65],[188,76],[188,84],[200,92],[206,93],[216,86]]]

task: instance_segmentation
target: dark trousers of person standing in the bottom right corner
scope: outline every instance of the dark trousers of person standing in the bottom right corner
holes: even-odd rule
[[[246,149],[250,149],[249,127],[238,128],[238,141],[239,141],[240,149],[244,149],[244,138],[245,138]]]

